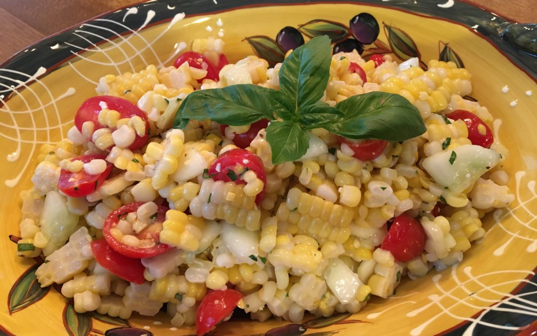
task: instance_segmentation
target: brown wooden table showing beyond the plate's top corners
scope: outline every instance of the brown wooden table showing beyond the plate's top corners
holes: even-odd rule
[[[139,0],[1,0],[0,63],[50,34],[101,13],[138,2]],[[537,23],[535,0],[473,0],[472,2],[492,12],[502,13],[503,16],[519,23]]]

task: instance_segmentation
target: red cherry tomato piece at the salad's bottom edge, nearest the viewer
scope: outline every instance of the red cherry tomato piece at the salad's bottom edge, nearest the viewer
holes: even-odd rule
[[[196,314],[196,334],[201,336],[233,312],[242,294],[234,289],[213,290],[200,302]]]

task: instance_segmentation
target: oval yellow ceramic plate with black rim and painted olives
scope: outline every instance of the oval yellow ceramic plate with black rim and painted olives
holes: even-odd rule
[[[453,60],[473,75],[471,97],[498,118],[496,137],[509,148],[505,169],[516,201],[489,213],[488,233],[463,261],[405,280],[394,296],[357,314],[302,325],[233,320],[217,335],[513,334],[537,325],[537,59],[533,26],[512,25],[463,2],[376,0],[288,3],[281,0],[152,1],[108,13],[20,52],[0,69],[0,335],[186,335],[164,315],[129,320],[78,314],[55,288],[40,288],[38,264],[16,257],[19,192],[30,188],[41,144],[66,137],[77,107],[95,95],[99,77],[169,65],[194,37],[220,36],[230,61],[257,52],[282,58],[273,39],[284,26],[345,33],[354,15],[381,25],[369,53],[401,59]],[[317,20],[313,21],[312,20]],[[304,28],[306,24],[306,28]],[[533,37],[534,38],[534,37]],[[368,52],[366,50],[366,52]],[[10,236],[11,235],[11,236]],[[10,240],[11,238],[11,240]]]

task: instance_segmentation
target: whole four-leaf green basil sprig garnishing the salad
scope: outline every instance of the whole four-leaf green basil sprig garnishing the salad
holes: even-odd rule
[[[330,77],[330,39],[311,39],[287,56],[279,71],[280,90],[253,84],[198,90],[177,110],[173,127],[211,119],[239,126],[271,120],[266,139],[272,162],[300,159],[309,147],[307,130],[326,128],[350,139],[402,141],[426,130],[419,111],[400,95],[369,92],[336,106],[320,102]]]

